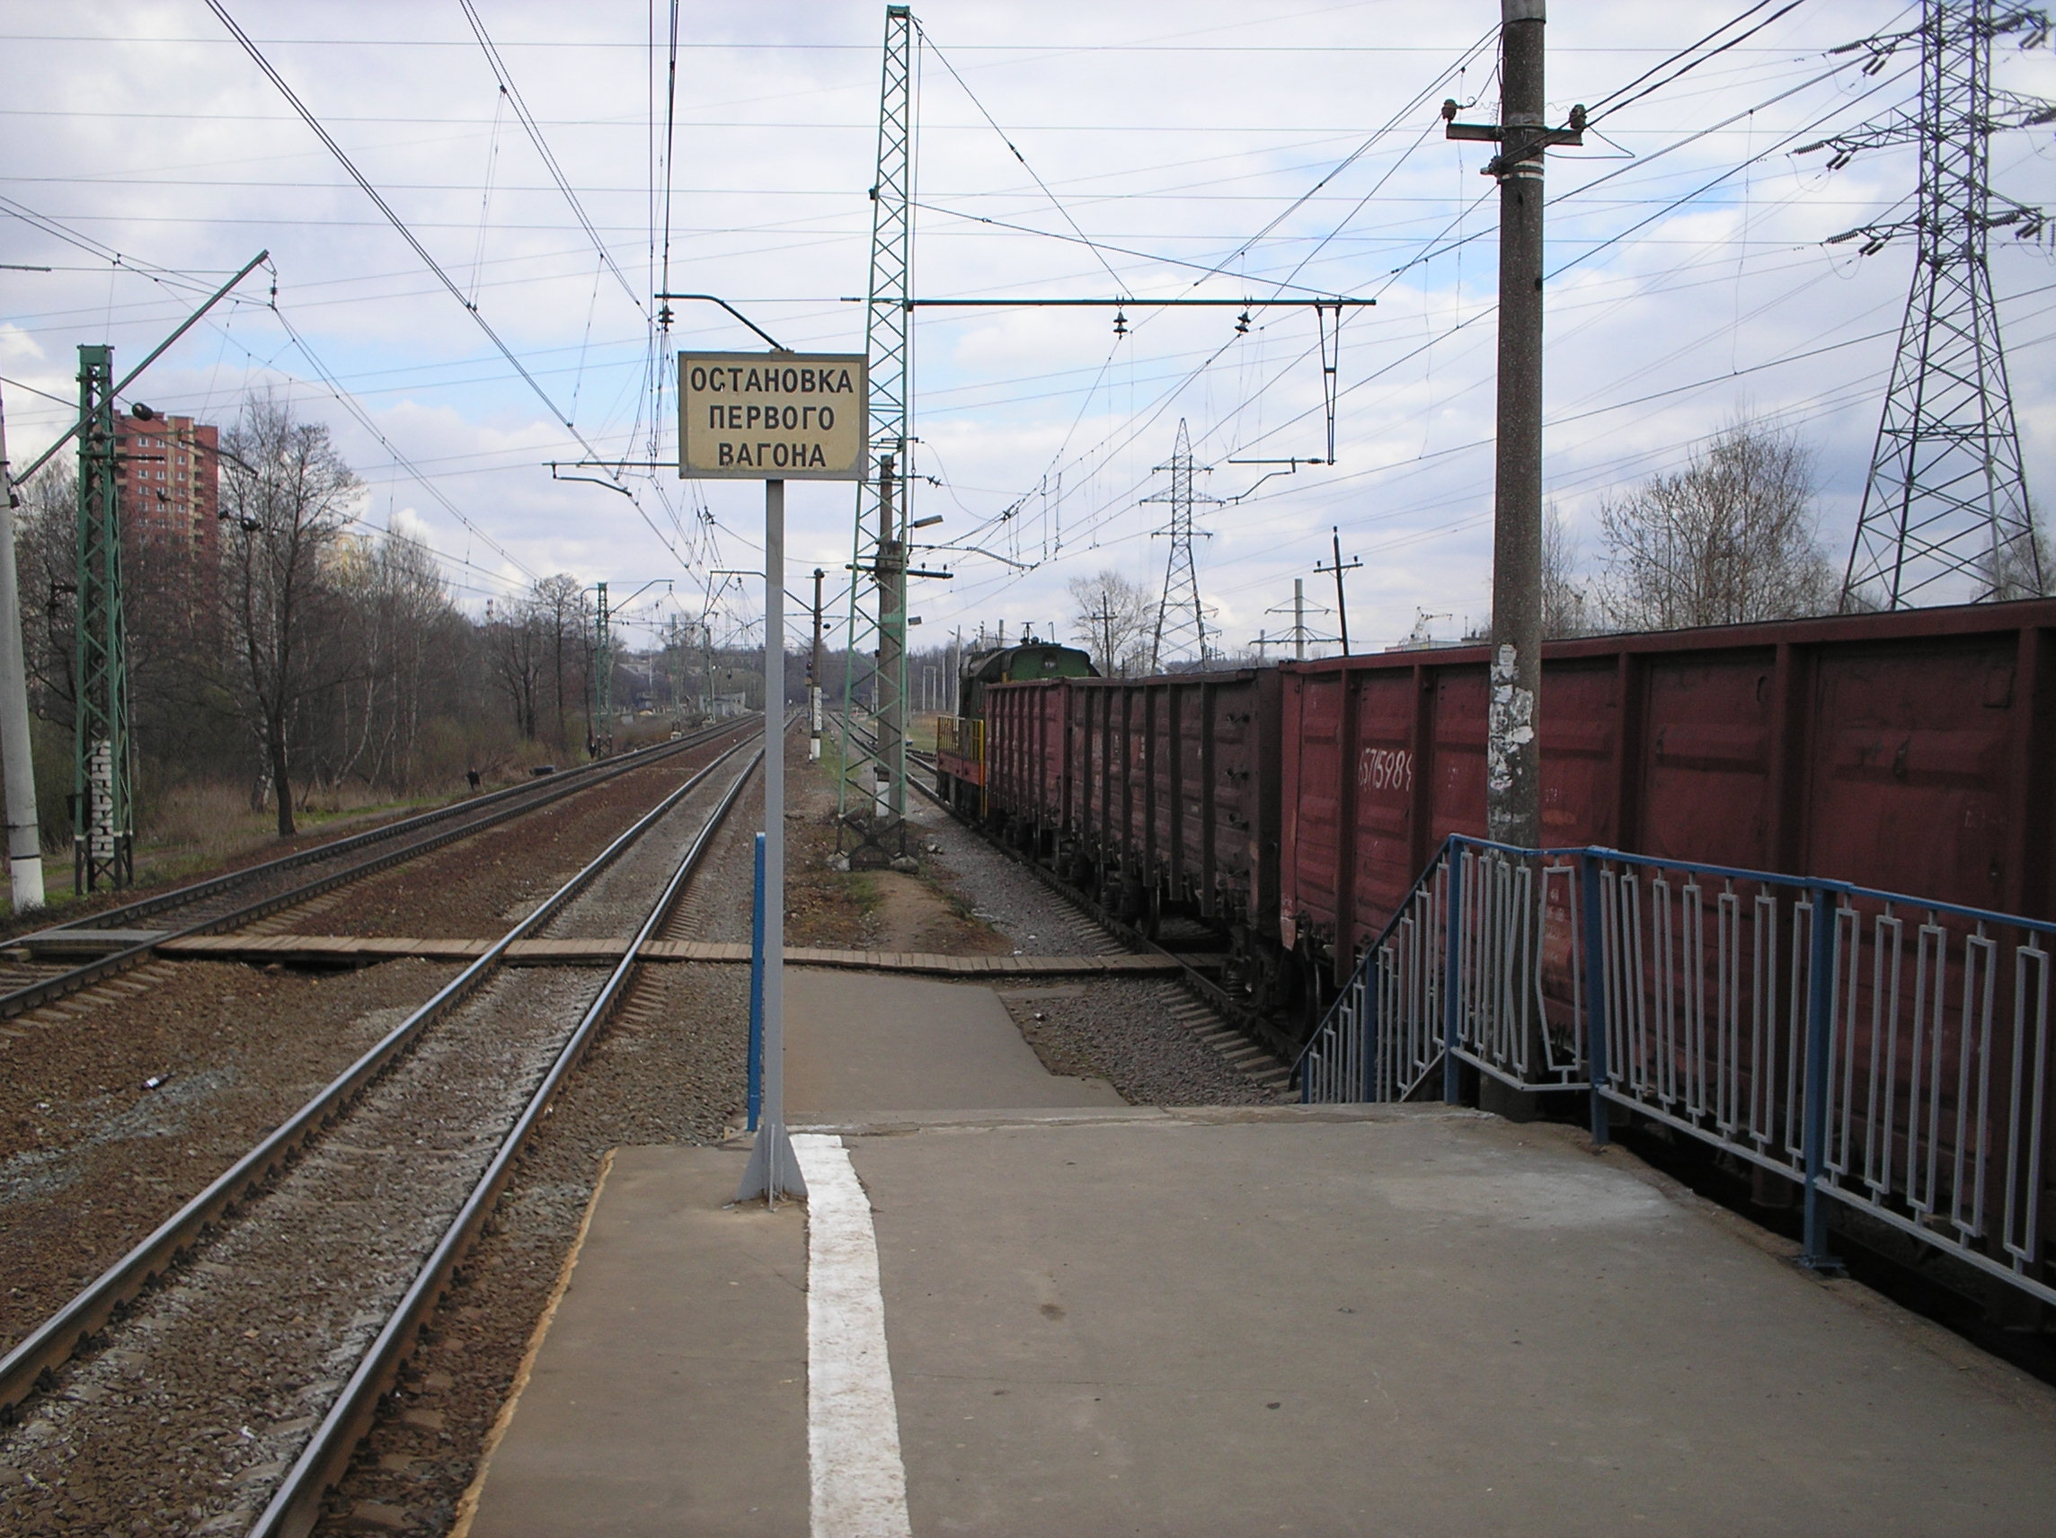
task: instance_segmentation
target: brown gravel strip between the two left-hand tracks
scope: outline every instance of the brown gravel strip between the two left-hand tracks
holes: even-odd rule
[[[438,933],[424,921],[432,915],[467,938],[500,933],[512,919],[491,913],[510,903],[526,911],[561,886],[720,746],[473,835],[428,855],[419,876],[384,872],[253,929],[341,927],[352,909],[376,907],[407,933]],[[156,960],[0,1024],[0,1343],[53,1314],[454,971],[409,960],[306,975]],[[158,1084],[144,1088],[150,1079]]]

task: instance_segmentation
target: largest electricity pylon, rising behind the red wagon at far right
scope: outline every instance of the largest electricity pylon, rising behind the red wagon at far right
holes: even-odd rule
[[[1924,0],[1916,31],[1852,45],[1871,49],[1875,74],[1918,37],[1920,111],[1807,146],[1834,150],[1830,171],[1859,150],[1920,146],[1918,214],[1834,236],[1861,239],[1865,255],[1908,232],[1920,245],[1842,578],[1844,611],[2046,590],[1986,247],[1996,228],[2033,239],[2046,226],[2040,208],[1992,191],[1988,164],[1996,130],[2056,119],[2056,105],[1992,90],[1992,39],[2021,35],[2033,47],[2048,29],[2029,6]]]

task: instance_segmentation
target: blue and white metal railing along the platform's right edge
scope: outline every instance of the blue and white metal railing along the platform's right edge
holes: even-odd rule
[[[1454,921],[1452,921],[1454,915]],[[1452,944],[1454,938],[1454,944]],[[1456,1065],[1626,1106],[2056,1302],[2056,925],[1618,849],[1452,837],[1295,1063],[1306,1100]]]

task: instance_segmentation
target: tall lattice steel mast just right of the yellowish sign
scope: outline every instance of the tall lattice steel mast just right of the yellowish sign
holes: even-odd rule
[[[849,666],[843,668],[841,785],[837,812],[861,845],[882,851],[907,810],[907,518],[911,481],[913,331],[913,10],[886,6],[884,70],[878,90],[878,175],[872,183],[872,276],[864,306],[870,360],[874,477],[857,483],[849,555]],[[896,481],[896,485],[894,485]],[[894,496],[896,491],[896,496]],[[870,656],[866,740],[851,720],[857,658]]]

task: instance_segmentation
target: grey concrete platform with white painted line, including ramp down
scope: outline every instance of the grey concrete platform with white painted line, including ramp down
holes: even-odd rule
[[[619,1149],[467,1538],[2056,1509],[2056,1394],[1569,1129],[1121,1106],[975,985],[796,971],[787,1010],[812,1211],[726,1207],[738,1147]]]

